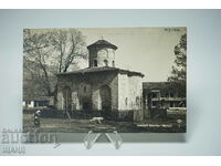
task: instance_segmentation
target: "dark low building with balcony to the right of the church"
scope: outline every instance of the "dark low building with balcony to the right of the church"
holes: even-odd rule
[[[177,89],[171,82],[144,82],[145,117],[164,118],[167,115],[186,115],[185,96],[185,89]]]

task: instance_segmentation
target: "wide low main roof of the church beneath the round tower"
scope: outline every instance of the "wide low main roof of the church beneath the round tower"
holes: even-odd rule
[[[118,68],[110,68],[110,66],[86,68],[86,69],[73,71],[73,72],[57,73],[56,75],[88,74],[88,73],[98,73],[98,72],[119,72],[119,73],[127,73],[128,75],[138,75],[138,76],[141,76],[141,77],[145,76],[140,72],[122,70],[122,69],[118,69]]]

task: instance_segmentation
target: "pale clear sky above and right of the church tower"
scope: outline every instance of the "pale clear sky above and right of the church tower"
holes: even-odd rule
[[[173,65],[173,48],[186,28],[109,28],[78,29],[90,45],[104,39],[118,49],[116,68],[145,74],[144,81],[167,81]]]

